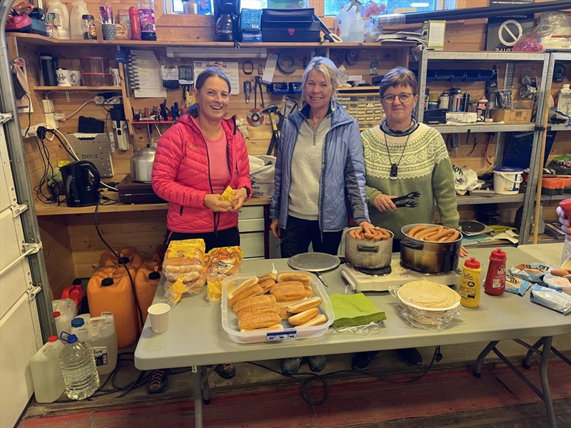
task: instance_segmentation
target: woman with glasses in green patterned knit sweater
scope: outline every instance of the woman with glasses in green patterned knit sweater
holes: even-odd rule
[[[418,101],[412,71],[395,67],[380,82],[385,120],[361,133],[365,158],[366,198],[371,223],[395,234],[393,252],[400,251],[400,229],[412,223],[434,223],[434,203],[443,225],[458,228],[454,173],[440,133],[417,123],[413,110]],[[409,195],[397,205],[393,198]],[[465,255],[465,249],[460,251]],[[398,350],[409,365],[420,365],[415,348]],[[358,352],[353,370],[367,370],[378,351]]]

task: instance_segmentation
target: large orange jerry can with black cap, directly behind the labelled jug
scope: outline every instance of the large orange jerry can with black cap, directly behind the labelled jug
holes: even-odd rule
[[[136,271],[130,267],[129,272],[134,280]],[[100,317],[101,312],[111,312],[115,317],[118,347],[136,342],[140,321],[125,267],[106,266],[97,270],[87,283],[87,300],[91,317]]]

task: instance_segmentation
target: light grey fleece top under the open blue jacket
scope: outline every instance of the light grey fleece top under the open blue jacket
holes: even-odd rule
[[[300,126],[298,141],[291,161],[290,215],[303,220],[318,220],[319,183],[323,166],[323,144],[331,128],[328,114],[317,131],[305,119]]]

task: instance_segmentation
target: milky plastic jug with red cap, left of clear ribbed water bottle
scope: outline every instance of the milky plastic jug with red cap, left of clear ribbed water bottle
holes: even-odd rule
[[[50,336],[44,346],[31,356],[30,371],[36,402],[52,403],[66,390],[64,375],[59,368],[59,355],[64,346],[57,336]]]

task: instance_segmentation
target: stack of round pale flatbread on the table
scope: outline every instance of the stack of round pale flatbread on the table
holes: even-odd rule
[[[458,292],[429,280],[407,282],[398,289],[398,298],[405,305],[423,310],[449,310],[460,303]]]

